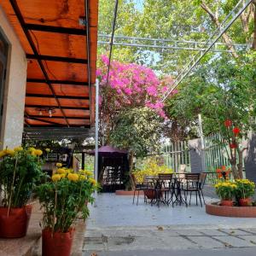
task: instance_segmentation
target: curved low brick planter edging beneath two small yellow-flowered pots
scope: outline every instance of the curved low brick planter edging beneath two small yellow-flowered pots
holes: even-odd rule
[[[224,207],[218,204],[207,204],[206,212],[225,217],[256,218],[256,207]]]

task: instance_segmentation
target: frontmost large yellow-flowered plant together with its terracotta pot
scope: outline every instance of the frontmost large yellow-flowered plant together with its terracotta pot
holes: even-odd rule
[[[73,224],[79,214],[85,220],[89,216],[87,202],[97,189],[91,173],[59,168],[51,180],[37,188],[37,196],[43,208],[42,251],[43,256],[69,256],[73,242]]]

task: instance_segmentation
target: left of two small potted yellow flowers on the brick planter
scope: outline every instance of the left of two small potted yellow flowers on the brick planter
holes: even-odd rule
[[[216,194],[221,199],[221,206],[233,206],[233,197],[236,195],[236,188],[236,183],[230,181],[220,181],[215,185]]]

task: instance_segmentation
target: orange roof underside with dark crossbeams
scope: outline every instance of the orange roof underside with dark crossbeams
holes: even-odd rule
[[[1,0],[26,52],[29,127],[95,120],[98,0]]]

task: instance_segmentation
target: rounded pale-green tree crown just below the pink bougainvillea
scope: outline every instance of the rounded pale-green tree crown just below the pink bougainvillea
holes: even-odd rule
[[[159,148],[161,118],[150,108],[127,109],[115,119],[110,142],[143,156]]]

